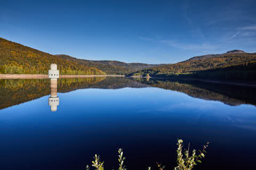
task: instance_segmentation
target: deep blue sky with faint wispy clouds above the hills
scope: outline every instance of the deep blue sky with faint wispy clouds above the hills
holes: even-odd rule
[[[256,52],[256,1],[2,1],[0,37],[88,60]]]

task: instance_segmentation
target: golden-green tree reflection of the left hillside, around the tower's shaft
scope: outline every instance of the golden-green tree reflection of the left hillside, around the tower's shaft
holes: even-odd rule
[[[60,92],[66,92],[104,79],[105,77],[59,79],[58,89]],[[0,109],[50,95],[50,92],[50,79],[1,79]]]

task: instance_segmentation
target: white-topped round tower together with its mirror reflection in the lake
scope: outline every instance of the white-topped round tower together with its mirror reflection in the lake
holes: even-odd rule
[[[51,111],[57,111],[59,105],[59,97],[57,96],[57,85],[59,78],[59,70],[57,70],[57,64],[51,64],[51,70],[49,70],[49,78],[51,79],[51,96],[49,97],[49,106]]]

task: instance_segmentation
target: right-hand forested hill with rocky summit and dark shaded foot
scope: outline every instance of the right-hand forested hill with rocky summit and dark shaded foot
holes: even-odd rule
[[[180,63],[144,69],[130,75],[256,81],[256,54],[233,50],[225,54],[196,56]]]

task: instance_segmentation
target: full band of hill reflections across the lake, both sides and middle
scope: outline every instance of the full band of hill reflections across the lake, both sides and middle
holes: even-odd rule
[[[58,92],[77,89],[158,87],[184,92],[191,97],[217,100],[227,105],[256,105],[256,89],[252,87],[196,81],[170,81],[164,79],[130,79],[123,77],[91,77],[58,79]],[[0,109],[25,103],[50,95],[50,79],[2,79],[0,80]]]

